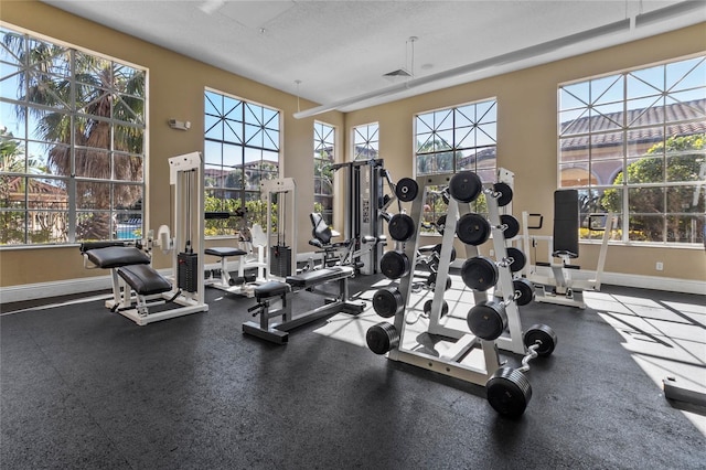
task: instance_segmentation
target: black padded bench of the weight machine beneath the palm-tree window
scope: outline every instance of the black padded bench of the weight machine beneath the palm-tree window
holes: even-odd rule
[[[113,299],[106,301],[110,311],[124,313],[127,310],[136,310],[139,317],[147,317],[150,306],[164,303],[148,303],[148,299],[161,297],[163,292],[172,289],[169,280],[150,266],[150,257],[135,246],[98,242],[82,244],[79,249],[94,267],[110,269]],[[121,288],[119,279],[125,281],[126,288]],[[132,291],[136,293],[135,303]],[[171,300],[178,295],[179,292]]]

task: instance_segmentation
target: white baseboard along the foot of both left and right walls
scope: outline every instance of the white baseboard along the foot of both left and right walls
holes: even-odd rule
[[[307,260],[314,254],[301,254],[301,258]],[[453,261],[451,266],[460,267],[461,263]],[[456,266],[458,264],[458,266]],[[170,276],[171,269],[161,269],[160,274]],[[595,273],[585,273],[586,275],[595,275]],[[700,293],[706,292],[706,281],[674,279],[655,276],[638,276],[621,273],[603,273],[602,284],[623,287],[637,287],[642,289],[665,290],[682,293]],[[79,279],[56,280],[51,282],[24,284],[19,286],[3,287],[0,293],[0,305],[10,302],[20,302],[25,300],[43,299],[47,297],[67,296],[73,293],[93,292],[111,288],[110,276],[96,276]],[[1,310],[1,309],[0,309]]]

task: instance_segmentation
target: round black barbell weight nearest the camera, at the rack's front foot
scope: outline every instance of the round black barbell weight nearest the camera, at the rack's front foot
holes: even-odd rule
[[[527,377],[512,367],[500,367],[485,384],[488,403],[503,416],[522,416],[532,399],[532,386]]]

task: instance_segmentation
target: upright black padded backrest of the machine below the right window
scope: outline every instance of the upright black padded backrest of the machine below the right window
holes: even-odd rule
[[[554,246],[552,256],[578,258],[578,190],[554,192]]]

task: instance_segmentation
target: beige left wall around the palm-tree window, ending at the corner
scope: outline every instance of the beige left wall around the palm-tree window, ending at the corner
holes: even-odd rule
[[[313,206],[313,118],[298,120],[292,117],[297,111],[296,96],[82,20],[39,1],[2,1],[0,19],[31,32],[149,68],[148,228],[170,224],[171,192],[167,159],[203,150],[204,87],[281,109],[282,168],[285,177],[291,177],[299,183],[299,245],[300,249],[308,249],[307,241],[311,234],[308,213],[309,207]],[[307,108],[314,104],[302,100],[300,106]],[[170,118],[190,120],[191,130],[171,129],[167,124]],[[317,118],[343,128],[341,113],[332,111]],[[156,250],[154,265],[158,268],[169,267],[170,259]],[[3,249],[0,252],[0,286],[105,276],[100,270],[84,269],[76,246]]]

